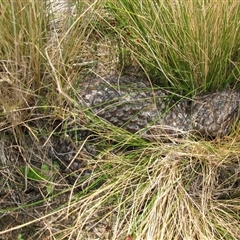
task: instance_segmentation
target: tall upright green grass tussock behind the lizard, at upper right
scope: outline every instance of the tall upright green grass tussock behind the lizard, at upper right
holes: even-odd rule
[[[108,1],[115,30],[160,86],[189,93],[234,86],[239,3]]]

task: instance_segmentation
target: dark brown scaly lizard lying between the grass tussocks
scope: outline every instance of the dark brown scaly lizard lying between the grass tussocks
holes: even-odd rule
[[[174,102],[172,95],[133,76],[93,78],[80,96],[98,116],[130,132],[156,126],[164,134],[199,133],[222,137],[239,114],[240,93],[206,93]]]

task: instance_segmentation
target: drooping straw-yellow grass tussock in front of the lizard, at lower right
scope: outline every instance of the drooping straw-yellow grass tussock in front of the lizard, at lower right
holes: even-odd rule
[[[73,222],[56,236],[238,239],[239,146],[230,147],[235,140],[102,152],[92,185],[61,214],[75,216]],[[100,178],[101,187],[91,190]]]

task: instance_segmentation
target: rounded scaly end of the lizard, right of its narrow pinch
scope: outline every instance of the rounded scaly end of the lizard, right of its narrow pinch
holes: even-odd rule
[[[226,90],[196,96],[192,101],[192,128],[203,136],[223,137],[239,118],[240,92]]]

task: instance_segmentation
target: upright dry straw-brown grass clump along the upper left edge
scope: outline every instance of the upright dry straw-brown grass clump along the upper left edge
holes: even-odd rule
[[[44,3],[1,1],[1,125],[17,126],[41,89],[47,18]],[[33,28],[36,26],[36,28]],[[22,113],[23,114],[22,114]],[[25,116],[26,118],[25,118]],[[5,120],[5,121],[4,121]]]

